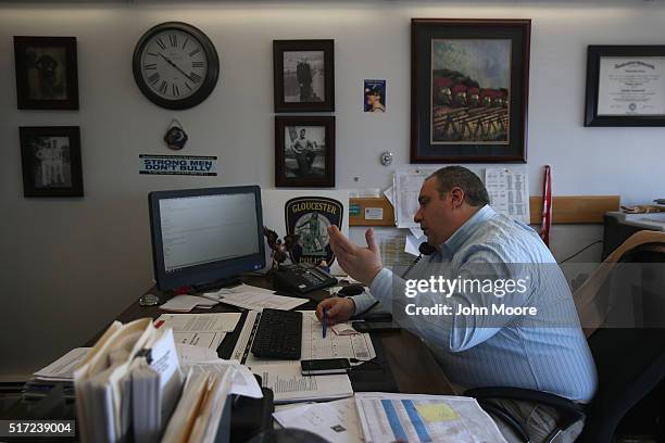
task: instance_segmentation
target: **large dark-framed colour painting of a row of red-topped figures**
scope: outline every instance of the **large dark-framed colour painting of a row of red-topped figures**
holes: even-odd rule
[[[411,22],[411,163],[526,163],[530,20]]]

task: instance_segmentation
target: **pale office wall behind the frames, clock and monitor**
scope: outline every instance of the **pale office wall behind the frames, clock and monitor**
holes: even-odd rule
[[[338,188],[387,187],[392,168],[379,164],[379,153],[392,151],[393,166],[409,162],[411,17],[532,18],[532,194],[550,164],[555,194],[616,193],[625,203],[663,197],[664,128],[581,125],[587,45],[662,43],[662,1],[3,3],[0,376],[80,345],[151,283],[149,191],[273,186],[273,39],[335,39]],[[212,96],[181,112],[145,99],[131,74],[139,37],[172,20],[203,29],[222,63]],[[79,111],[16,110],[15,35],[77,37]],[[362,113],[363,78],[388,80],[386,114]],[[166,153],[161,138],[173,117],[189,134],[185,153],[219,157],[217,177],[138,174],[139,153]],[[80,126],[83,199],[23,198],[18,126],[50,125]],[[601,232],[555,227],[554,252],[563,257]]]

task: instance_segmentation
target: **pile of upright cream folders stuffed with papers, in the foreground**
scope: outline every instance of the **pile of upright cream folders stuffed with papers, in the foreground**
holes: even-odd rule
[[[74,371],[81,441],[215,441],[228,432],[219,427],[228,395],[260,397],[261,389],[237,364],[210,367],[186,374],[171,328],[155,329],[150,318],[115,321]],[[241,392],[234,390],[238,376]]]

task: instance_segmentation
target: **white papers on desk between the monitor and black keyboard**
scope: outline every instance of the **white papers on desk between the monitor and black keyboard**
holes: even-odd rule
[[[309,302],[308,299],[277,295],[267,289],[249,284],[225,288],[217,292],[205,293],[203,296],[250,311],[263,311],[265,307],[290,311]]]

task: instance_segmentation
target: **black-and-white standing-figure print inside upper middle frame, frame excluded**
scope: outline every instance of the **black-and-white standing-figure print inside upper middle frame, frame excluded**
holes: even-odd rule
[[[323,51],[284,53],[284,101],[322,102],[326,99]]]

